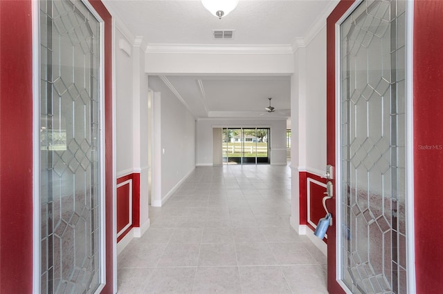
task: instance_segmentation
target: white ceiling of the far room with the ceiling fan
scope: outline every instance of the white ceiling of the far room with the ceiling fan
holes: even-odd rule
[[[166,83],[165,83],[166,81]],[[173,87],[197,117],[289,117],[289,77],[161,76],[149,77],[154,91]],[[176,94],[177,95],[177,94]],[[268,97],[275,112],[268,113]]]

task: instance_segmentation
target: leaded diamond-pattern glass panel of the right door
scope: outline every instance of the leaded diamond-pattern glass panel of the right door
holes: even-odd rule
[[[363,1],[341,24],[341,250],[352,293],[406,293],[404,7]]]

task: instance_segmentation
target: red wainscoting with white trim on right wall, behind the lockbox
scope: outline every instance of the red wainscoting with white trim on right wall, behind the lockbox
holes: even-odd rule
[[[326,179],[309,172],[300,172],[300,224],[315,231],[318,220],[325,217],[323,197],[326,192]],[[326,238],[323,239],[326,242]]]

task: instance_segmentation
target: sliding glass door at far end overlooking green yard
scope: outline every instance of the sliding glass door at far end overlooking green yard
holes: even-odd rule
[[[269,128],[224,128],[224,164],[269,164]]]

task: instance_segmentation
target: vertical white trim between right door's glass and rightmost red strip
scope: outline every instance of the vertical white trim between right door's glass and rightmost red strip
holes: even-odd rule
[[[414,2],[406,1],[406,275],[407,292],[415,293],[413,34]],[[408,131],[409,130],[409,131]]]

